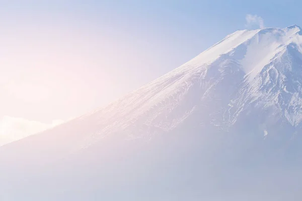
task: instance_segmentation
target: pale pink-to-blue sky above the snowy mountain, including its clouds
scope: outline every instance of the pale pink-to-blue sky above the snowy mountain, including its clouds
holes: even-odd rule
[[[301,6],[0,0],[0,145],[103,107],[237,30],[302,26]]]

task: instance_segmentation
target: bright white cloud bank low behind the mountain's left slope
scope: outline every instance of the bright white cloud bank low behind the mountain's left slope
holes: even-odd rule
[[[51,124],[4,116],[0,118],[0,146],[39,133],[64,121],[54,120]]]

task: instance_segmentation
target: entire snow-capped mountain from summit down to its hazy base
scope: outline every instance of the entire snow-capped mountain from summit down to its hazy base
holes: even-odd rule
[[[0,147],[1,200],[299,200],[302,29],[242,30]]]

